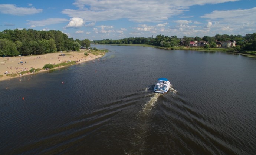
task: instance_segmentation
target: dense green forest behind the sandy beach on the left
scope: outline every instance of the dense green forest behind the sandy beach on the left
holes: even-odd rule
[[[33,29],[4,30],[0,32],[0,56],[45,54],[90,47],[90,41],[74,40],[61,31],[37,31]]]

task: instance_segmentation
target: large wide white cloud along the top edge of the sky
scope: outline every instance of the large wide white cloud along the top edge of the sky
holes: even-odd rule
[[[107,21],[128,18],[129,21],[161,22],[184,11],[190,6],[218,4],[239,0],[76,0],[77,10],[65,9],[63,14],[81,17],[85,21]],[[89,16],[88,16],[89,15]]]

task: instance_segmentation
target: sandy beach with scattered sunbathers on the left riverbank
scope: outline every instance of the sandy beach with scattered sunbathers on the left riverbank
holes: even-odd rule
[[[88,56],[84,55],[84,52],[89,51],[85,49],[81,49],[80,51],[74,52],[66,52],[62,53],[48,53],[43,55],[31,55],[31,56],[18,56],[18,57],[0,57],[0,81],[9,80],[11,78],[20,77],[17,75],[16,77],[6,76],[6,72],[8,74],[19,73],[21,71],[29,71],[31,68],[40,68],[42,69],[45,64],[59,64],[68,60],[75,60],[78,63],[82,63],[85,61],[90,61],[96,58],[101,57],[101,55],[93,55],[88,53]],[[66,54],[66,56],[59,56],[59,54]],[[62,66],[63,67],[63,66]],[[40,73],[46,70],[41,70],[36,73]],[[26,73],[22,76],[36,74],[36,73]]]

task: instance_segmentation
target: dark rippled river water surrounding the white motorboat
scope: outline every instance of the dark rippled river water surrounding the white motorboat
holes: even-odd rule
[[[97,48],[111,51],[0,82],[0,154],[255,154],[255,58]]]

